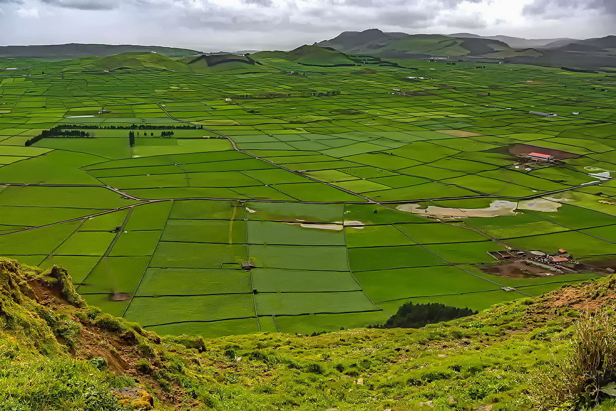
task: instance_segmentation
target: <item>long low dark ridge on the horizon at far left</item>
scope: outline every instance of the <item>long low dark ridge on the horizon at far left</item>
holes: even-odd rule
[[[0,57],[15,58],[78,58],[94,55],[105,57],[121,53],[155,52],[169,57],[198,54],[196,50],[131,44],[50,44],[45,46],[0,46]]]

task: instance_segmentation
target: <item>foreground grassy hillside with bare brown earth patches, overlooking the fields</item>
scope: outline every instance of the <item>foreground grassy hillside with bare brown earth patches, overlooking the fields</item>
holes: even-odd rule
[[[601,353],[616,345],[613,322],[584,314],[613,307],[615,288],[602,279],[423,329],[160,337],[87,306],[63,269],[0,258],[0,404],[150,410],[152,394],[158,410],[609,410],[607,395],[577,394],[570,367],[586,362],[564,359],[583,335]],[[112,393],[132,386],[143,391]]]

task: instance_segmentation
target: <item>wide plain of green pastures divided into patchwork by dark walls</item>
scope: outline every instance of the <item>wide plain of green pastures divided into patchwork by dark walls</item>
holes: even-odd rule
[[[0,71],[0,254],[65,267],[89,303],[147,329],[207,337],[378,324],[407,301],[483,309],[602,275],[482,271],[505,246],[613,260],[606,73],[260,61]],[[26,145],[55,126],[91,138]],[[499,201],[514,210],[491,215]]]

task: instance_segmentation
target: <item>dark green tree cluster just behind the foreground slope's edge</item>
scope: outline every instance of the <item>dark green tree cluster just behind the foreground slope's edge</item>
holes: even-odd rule
[[[450,321],[456,318],[477,314],[469,308],[451,307],[439,303],[413,304],[406,303],[398,309],[383,325],[374,328],[421,328],[427,324]]]

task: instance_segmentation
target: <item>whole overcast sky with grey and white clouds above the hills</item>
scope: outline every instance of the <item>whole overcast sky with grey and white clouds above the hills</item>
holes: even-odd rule
[[[349,30],[590,38],[616,0],[0,0],[0,43],[292,49]]]

